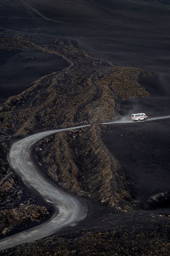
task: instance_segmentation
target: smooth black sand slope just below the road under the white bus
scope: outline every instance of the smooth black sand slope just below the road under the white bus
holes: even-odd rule
[[[103,141],[133,184],[134,200],[169,191],[169,125],[168,118],[103,128]]]

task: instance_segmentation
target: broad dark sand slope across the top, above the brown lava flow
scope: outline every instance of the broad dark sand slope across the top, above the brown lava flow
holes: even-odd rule
[[[55,36],[75,39],[94,57],[157,72],[169,93],[169,11],[169,1],[3,0],[0,27],[41,44]]]

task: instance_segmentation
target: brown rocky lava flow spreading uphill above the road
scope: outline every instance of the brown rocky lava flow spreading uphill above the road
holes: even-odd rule
[[[2,132],[28,135],[40,128],[103,122],[115,119],[116,99],[150,95],[138,80],[151,72],[93,58],[70,39],[57,38],[54,44],[41,46],[8,37],[0,39],[0,48],[33,49],[58,55],[68,63],[63,71],[40,78],[0,105]]]

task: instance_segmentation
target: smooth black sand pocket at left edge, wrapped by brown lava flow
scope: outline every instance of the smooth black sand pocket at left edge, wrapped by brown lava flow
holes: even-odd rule
[[[35,50],[0,49],[0,102],[30,87],[42,76],[66,68],[68,63],[54,54]]]

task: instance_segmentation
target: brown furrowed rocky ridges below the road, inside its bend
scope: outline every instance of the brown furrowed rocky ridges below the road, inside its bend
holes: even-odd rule
[[[107,150],[99,125],[57,133],[34,149],[39,167],[67,191],[114,206],[130,199],[119,163]]]

